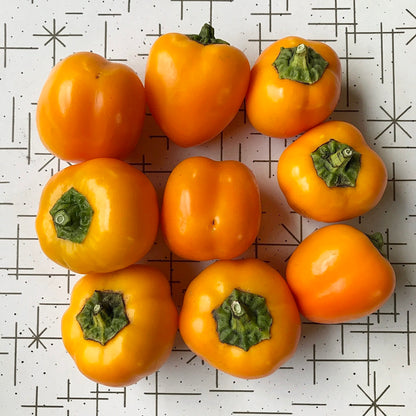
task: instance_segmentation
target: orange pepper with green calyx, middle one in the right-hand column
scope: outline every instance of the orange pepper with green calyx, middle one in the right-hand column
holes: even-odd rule
[[[337,222],[365,214],[378,204],[387,171],[356,127],[328,121],[283,151],[277,179],[295,211],[317,221]]]

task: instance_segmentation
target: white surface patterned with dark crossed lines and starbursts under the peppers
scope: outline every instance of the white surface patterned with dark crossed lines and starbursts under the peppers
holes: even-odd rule
[[[0,14],[0,402],[3,415],[414,415],[416,409],[416,4],[414,0],[1,0]],[[35,123],[52,66],[90,50],[130,65],[144,80],[150,47],[167,32],[218,37],[254,64],[288,35],[327,42],[342,64],[342,94],[331,118],[355,124],[386,163],[380,204],[348,223],[379,230],[397,274],[394,296],[377,313],[324,326],[303,322],[294,357],[273,375],[246,381],[216,371],[180,337],[168,362],[127,388],[83,377],[66,353],[60,319],[80,277],[41,252],[34,228],[41,190],[68,164],[48,153]],[[161,197],[188,156],[235,159],[255,173],[262,226],[243,257],[281,273],[294,248],[322,224],[292,212],[276,167],[290,140],[257,133],[244,107],[209,143],[182,149],[145,117],[129,159]],[[180,307],[207,263],[172,255],[159,236],[143,263],[169,278]],[[196,413],[198,412],[198,413]]]

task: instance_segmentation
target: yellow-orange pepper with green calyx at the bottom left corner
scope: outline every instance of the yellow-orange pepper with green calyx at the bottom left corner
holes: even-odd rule
[[[62,341],[79,370],[107,386],[127,386],[168,359],[178,312],[166,277],[132,265],[75,284],[62,317]]]

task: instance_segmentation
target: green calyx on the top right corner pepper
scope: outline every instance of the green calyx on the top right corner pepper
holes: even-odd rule
[[[294,48],[282,47],[272,65],[281,79],[311,85],[320,80],[328,62],[311,47],[301,43]]]

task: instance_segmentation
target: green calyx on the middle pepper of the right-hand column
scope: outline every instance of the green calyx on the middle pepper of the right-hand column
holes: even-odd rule
[[[311,153],[317,175],[329,188],[355,187],[361,154],[351,146],[331,139]]]

